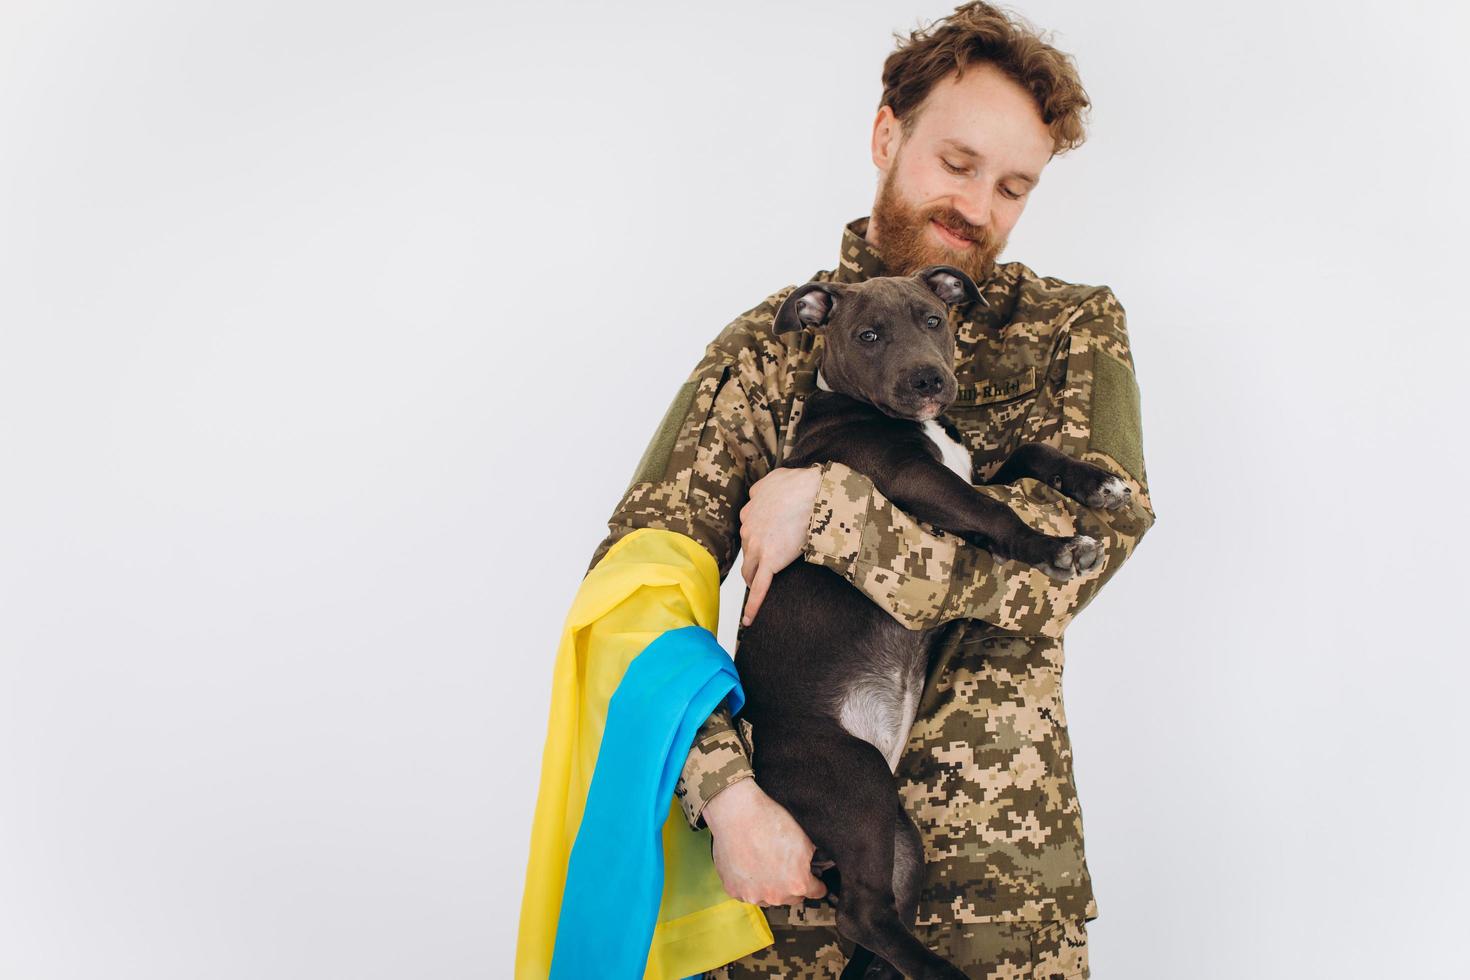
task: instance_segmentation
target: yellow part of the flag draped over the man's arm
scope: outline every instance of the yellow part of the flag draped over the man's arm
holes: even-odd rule
[[[516,939],[516,980],[551,971],[566,865],[597,767],[607,702],[634,657],[660,635],[719,627],[714,558],[672,530],[639,527],[617,541],[572,599],[551,676],[551,717]],[[689,830],[678,801],[663,824],[663,901],[645,980],[681,980],[772,945],[759,907],[731,898],[709,830]],[[612,979],[616,980],[616,979]]]

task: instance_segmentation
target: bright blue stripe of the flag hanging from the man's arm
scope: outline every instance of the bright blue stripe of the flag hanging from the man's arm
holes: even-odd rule
[[[703,626],[662,633],[607,702],[582,824],[567,860],[551,980],[639,980],[663,896],[663,823],[694,733],[729,696],[735,664]]]

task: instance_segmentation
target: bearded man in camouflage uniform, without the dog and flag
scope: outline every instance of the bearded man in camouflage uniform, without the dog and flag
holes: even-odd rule
[[[770,294],[706,348],[592,555],[641,527],[673,530],[714,557],[744,548],[742,624],[772,576],[823,564],[900,621],[948,623],[897,768],[925,839],[916,934],[975,977],[1088,976],[1097,915],[1061,704],[1061,635],[1154,522],[1123,307],[1105,287],[997,263],[1050,159],[1083,140],[1086,94],[1066,54],[983,3],[913,32],[883,66],[872,134],[872,216],[842,231],[839,264],[813,279],[964,269],[989,306],[961,307],[948,417],[976,479],[1023,441],[1044,441],[1127,480],[1108,513],[1035,480],[982,488],[1050,533],[1088,533],[1100,567],[1048,579],[895,508],[861,473],[778,469],[813,391],[822,338],[770,332]],[[853,945],[810,870],[813,845],[751,777],[760,733],[717,710],[700,727],[676,793],[713,833],[725,890],[763,907],[775,945],[707,977],[836,977]],[[841,793],[841,786],[832,788]]]

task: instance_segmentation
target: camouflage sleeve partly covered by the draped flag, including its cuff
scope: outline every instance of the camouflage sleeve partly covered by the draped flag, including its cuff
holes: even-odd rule
[[[769,329],[772,303],[767,297],[726,326],[679,385],[588,570],[634,529],[660,527],[704,545],[720,580],[729,574],[739,552],[739,508],[779,453],[778,423],[767,410],[779,389],[773,354],[750,339],[761,323]],[[704,827],[704,804],[748,776],[750,752],[722,707],[695,735],[676,786],[689,826]]]

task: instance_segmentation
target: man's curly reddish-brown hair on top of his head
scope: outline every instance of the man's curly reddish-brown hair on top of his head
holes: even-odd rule
[[[1048,37],[1013,12],[988,3],[964,3],[928,28],[904,38],[883,62],[883,97],[903,126],[913,134],[919,110],[933,85],[951,72],[964,75],[969,65],[991,63],[1036,100],[1051,131],[1051,153],[1064,153],[1086,140],[1083,115],[1091,106],[1070,54],[1048,44]]]

